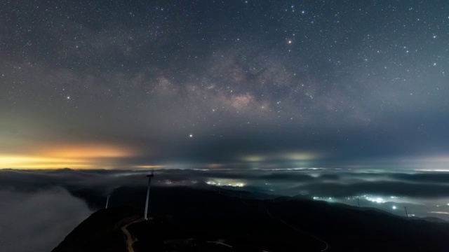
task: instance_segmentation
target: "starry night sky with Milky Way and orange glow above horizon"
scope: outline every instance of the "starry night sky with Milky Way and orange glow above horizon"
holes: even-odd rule
[[[0,168],[448,169],[449,2],[0,1]]]

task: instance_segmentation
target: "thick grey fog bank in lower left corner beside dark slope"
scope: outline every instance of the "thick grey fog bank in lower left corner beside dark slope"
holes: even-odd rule
[[[51,251],[86,219],[86,202],[62,188],[0,190],[0,247],[3,251]]]

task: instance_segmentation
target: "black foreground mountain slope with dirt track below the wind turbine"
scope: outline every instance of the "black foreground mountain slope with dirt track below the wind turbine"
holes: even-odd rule
[[[449,251],[447,223],[326,202],[154,188],[149,221],[123,203],[143,207],[145,188],[116,190],[54,251]]]

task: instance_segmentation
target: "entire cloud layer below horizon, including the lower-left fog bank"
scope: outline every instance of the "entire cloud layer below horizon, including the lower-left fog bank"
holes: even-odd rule
[[[107,195],[112,194],[114,200],[114,190],[123,186],[144,188],[148,172],[145,169],[0,170],[1,247],[19,252],[50,251],[95,208],[103,207]],[[156,169],[152,184],[201,188],[213,185],[271,195],[300,195],[310,200],[355,206],[360,203],[362,207],[399,215],[403,215],[403,207],[408,207],[409,214],[415,216],[448,219],[447,214],[441,214],[449,211],[447,176],[445,172],[408,170],[201,167]],[[360,202],[354,196],[360,197]]]

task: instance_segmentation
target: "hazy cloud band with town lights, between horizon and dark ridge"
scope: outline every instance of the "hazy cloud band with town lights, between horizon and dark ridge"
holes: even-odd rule
[[[0,172],[1,190],[34,192],[59,185],[70,192],[88,190],[105,199],[122,186],[145,187],[148,170],[47,170]],[[391,211],[392,206],[408,206],[416,216],[438,216],[431,213],[449,211],[449,174],[446,172],[387,172],[380,170],[354,172],[351,169],[157,169],[155,186],[208,185],[247,190],[269,195],[288,195],[343,202],[355,205],[348,197],[361,197],[364,207]],[[363,196],[365,195],[365,196]],[[368,195],[368,196],[367,196]],[[368,197],[368,198],[367,198]],[[369,198],[381,197],[382,204]],[[383,203],[388,204],[383,204]],[[401,212],[393,211],[394,214]]]

